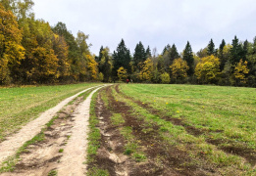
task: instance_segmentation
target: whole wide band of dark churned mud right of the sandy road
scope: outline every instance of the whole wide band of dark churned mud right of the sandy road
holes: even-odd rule
[[[108,105],[104,104],[101,96],[98,97],[96,114],[100,120],[101,147],[95,155],[95,162],[88,165],[89,169],[98,166],[108,170],[111,176],[207,175],[208,171],[202,168],[184,165],[190,161],[189,156],[166,144],[156,132],[158,125],[138,119],[126,103],[117,102],[110,87],[102,89],[101,92],[105,92]],[[113,113],[121,114],[124,123],[114,125],[111,119]],[[120,132],[124,127],[131,127],[138,150],[147,156],[144,161],[137,161],[130,154],[125,154],[128,141]]]

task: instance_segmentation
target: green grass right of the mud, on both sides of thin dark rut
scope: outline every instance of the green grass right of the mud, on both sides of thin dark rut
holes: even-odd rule
[[[165,115],[179,118],[185,124],[208,131],[200,136],[187,134],[183,126],[174,125],[151,114],[134,102],[118,95],[117,99],[126,102],[137,115],[144,120],[157,123],[159,133],[166,142],[187,151],[197,165],[207,162],[220,174],[255,174],[253,165],[235,154],[226,154],[220,150],[222,145],[245,146],[255,150],[255,116],[256,91],[252,88],[234,88],[217,86],[192,85],[143,85],[122,84],[121,91],[162,111]],[[216,132],[218,131],[218,132]],[[215,146],[208,144],[207,139],[222,139],[228,144]],[[189,148],[188,148],[189,147]],[[189,150],[188,150],[189,149]],[[189,163],[187,163],[189,164]]]

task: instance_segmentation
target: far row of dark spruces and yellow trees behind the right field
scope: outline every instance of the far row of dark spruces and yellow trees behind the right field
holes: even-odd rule
[[[139,42],[132,56],[122,39],[113,55],[108,47],[101,47],[96,61],[105,82],[129,78],[144,83],[256,87],[256,38],[253,42],[242,42],[234,36],[231,44],[223,39],[219,48],[211,39],[197,53],[193,53],[189,42],[181,53],[175,44],[168,44],[161,55]]]

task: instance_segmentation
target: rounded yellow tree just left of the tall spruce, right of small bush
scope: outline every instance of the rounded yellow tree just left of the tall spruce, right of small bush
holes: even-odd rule
[[[176,59],[172,66],[170,66],[172,70],[172,76],[178,80],[187,77],[187,70],[189,67],[187,63],[183,61],[181,58]]]

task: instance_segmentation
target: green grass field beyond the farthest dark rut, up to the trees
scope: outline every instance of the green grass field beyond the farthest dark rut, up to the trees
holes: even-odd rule
[[[256,89],[199,86],[123,84],[129,97],[184,119],[198,129],[223,131],[214,138],[245,142],[256,150]]]

